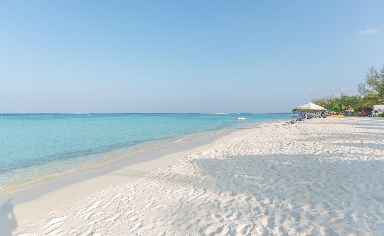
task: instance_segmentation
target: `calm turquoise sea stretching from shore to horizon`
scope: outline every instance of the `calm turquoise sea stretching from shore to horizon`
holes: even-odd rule
[[[0,188],[70,173],[106,158],[286,120],[290,113],[0,114]],[[245,121],[236,122],[244,116]],[[231,121],[232,120],[232,121]]]

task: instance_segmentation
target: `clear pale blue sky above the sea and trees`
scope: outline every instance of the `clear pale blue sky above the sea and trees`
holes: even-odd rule
[[[285,112],[357,94],[384,1],[2,1],[0,113]]]

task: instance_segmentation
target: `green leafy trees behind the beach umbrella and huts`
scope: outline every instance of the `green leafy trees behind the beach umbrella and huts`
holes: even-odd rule
[[[366,77],[357,84],[358,95],[328,96],[314,99],[312,102],[325,107],[330,112],[344,112],[350,105],[355,113],[364,107],[384,104],[384,64],[378,70],[373,66],[368,69]],[[303,113],[300,109],[293,109],[294,113]]]

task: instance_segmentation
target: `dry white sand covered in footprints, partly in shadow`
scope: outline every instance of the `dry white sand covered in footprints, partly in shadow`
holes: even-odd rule
[[[271,124],[19,222],[12,235],[383,235],[384,119]]]

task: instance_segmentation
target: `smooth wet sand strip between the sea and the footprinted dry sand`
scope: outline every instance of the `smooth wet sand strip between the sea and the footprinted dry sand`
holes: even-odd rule
[[[240,137],[265,125],[279,124],[283,121],[271,121],[258,124],[252,128],[238,128],[225,130],[221,133],[208,134],[202,138],[190,140],[182,145],[164,146],[149,152],[138,153],[127,158],[121,158],[98,170],[88,170],[86,173],[71,173],[73,176],[63,175],[56,180],[42,185],[33,186],[10,194],[0,195],[0,205],[12,199],[13,214],[18,222],[45,216],[48,212],[58,210],[66,204],[95,191],[127,182],[138,178],[156,168],[169,165],[191,153],[207,149],[228,139]],[[142,160],[144,157],[145,160]],[[121,166],[121,164],[123,164]],[[60,198],[57,198],[60,196]]]

